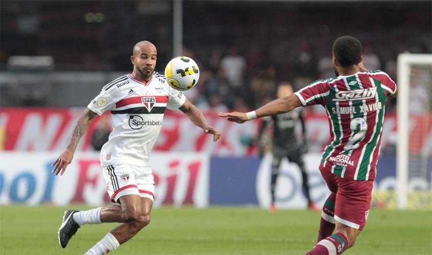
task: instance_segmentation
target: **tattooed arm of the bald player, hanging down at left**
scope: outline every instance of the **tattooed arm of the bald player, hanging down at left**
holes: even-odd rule
[[[96,118],[97,116],[98,114],[90,111],[88,108],[84,110],[81,117],[78,119],[77,124],[75,125],[69,144],[62,154],[60,154],[56,161],[54,161],[54,163],[51,165],[54,167],[53,173],[55,175],[58,175],[59,173],[60,175],[63,175],[67,165],[71,164],[79,140],[84,135],[85,131],[87,131],[88,124],[90,124],[92,119]]]

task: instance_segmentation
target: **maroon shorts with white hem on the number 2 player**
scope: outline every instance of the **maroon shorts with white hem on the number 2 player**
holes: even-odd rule
[[[321,174],[330,191],[336,193],[334,219],[362,230],[371,208],[373,181],[344,179],[326,170],[322,170]]]

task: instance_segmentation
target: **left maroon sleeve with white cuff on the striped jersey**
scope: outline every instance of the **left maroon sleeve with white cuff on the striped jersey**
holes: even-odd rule
[[[330,86],[327,81],[315,81],[303,89],[294,93],[299,97],[303,106],[324,105],[330,93]]]

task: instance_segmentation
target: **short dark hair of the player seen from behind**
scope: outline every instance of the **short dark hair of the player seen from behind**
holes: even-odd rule
[[[333,56],[342,67],[360,63],[361,43],[352,36],[341,36],[333,43]]]

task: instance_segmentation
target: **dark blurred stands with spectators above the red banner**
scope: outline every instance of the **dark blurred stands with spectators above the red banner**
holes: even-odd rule
[[[262,12],[263,8],[266,12]],[[346,30],[340,20],[361,20],[370,8],[385,15],[351,24],[349,31],[364,44],[366,67],[384,70],[396,80],[399,53],[431,52],[430,22],[425,22],[431,19],[427,1],[400,1],[394,5],[354,2],[349,6],[184,1],[183,55],[193,58],[201,70],[199,86],[188,91],[187,96],[203,110],[244,111],[274,99],[281,82],[288,81],[297,90],[316,79],[334,77],[328,53],[334,38]],[[159,45],[156,70],[163,72],[172,57],[170,1],[58,5],[8,1],[2,4],[1,12],[2,71],[12,69],[10,57],[15,55],[49,56],[52,61],[48,61],[48,71],[127,71],[131,68],[131,53],[125,45],[143,39]],[[340,15],[326,14],[330,12]],[[385,24],[386,30],[380,29],[380,24]],[[50,105],[49,98],[41,96],[48,91],[55,96],[56,87],[60,87],[43,80],[37,83],[34,88],[39,93],[10,90],[8,84],[2,83],[2,106],[61,106]],[[103,84],[94,86],[100,88]],[[24,99],[11,101],[10,93]],[[418,94],[422,94],[421,89]],[[395,101],[389,101],[387,112],[394,106]]]

